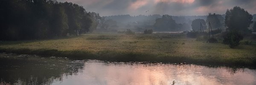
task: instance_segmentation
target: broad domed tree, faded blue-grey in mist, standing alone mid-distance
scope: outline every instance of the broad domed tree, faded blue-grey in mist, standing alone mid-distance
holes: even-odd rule
[[[162,18],[157,18],[154,23],[154,28],[157,31],[177,31],[177,23],[170,15],[163,15]]]

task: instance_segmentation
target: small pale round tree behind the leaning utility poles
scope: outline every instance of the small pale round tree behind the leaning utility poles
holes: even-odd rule
[[[205,30],[206,29],[206,23],[203,19],[195,19],[192,21],[192,30],[193,31],[200,31],[200,23],[202,24],[202,28]]]

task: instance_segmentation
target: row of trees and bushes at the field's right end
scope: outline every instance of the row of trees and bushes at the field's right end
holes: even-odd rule
[[[252,31],[256,31],[256,23],[253,23],[253,15],[248,13],[243,8],[240,8],[239,6],[227,9],[225,18],[222,17],[220,14],[209,13],[206,22],[203,19],[195,19],[192,21],[191,26],[193,31],[190,31],[187,34],[187,37],[192,38],[208,35],[199,32],[201,31],[201,28],[206,30],[207,27],[209,29],[210,26],[210,28],[215,29],[211,29],[212,31],[209,30],[209,34],[212,34],[212,37],[210,38],[209,35],[207,41],[217,41],[213,37],[213,34],[221,33],[224,29],[225,31],[221,34],[223,37],[223,43],[229,45],[230,48],[235,48],[236,46],[238,46],[240,44],[240,41],[243,40],[244,36],[255,36],[251,33]]]

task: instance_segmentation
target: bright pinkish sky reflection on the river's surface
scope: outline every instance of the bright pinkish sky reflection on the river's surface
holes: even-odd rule
[[[171,85],[172,81],[176,82],[175,85],[256,85],[256,71],[199,65],[87,61],[78,76],[53,85]]]

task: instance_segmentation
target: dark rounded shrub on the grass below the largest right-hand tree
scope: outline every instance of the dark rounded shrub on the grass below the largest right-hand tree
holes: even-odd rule
[[[227,31],[223,35],[223,43],[229,45],[230,48],[234,48],[239,45],[239,42],[243,40],[243,35],[238,31]]]

